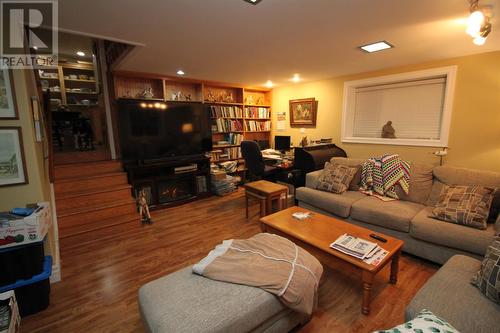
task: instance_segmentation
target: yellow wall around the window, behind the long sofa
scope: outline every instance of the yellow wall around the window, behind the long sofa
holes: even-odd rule
[[[457,81],[446,165],[500,172],[500,52],[446,59],[388,70],[362,73],[328,80],[295,84],[273,90],[273,134],[291,135],[294,145],[302,136],[308,139],[333,138],[349,157],[368,158],[398,153],[412,161],[438,164],[433,147],[413,147],[361,143],[342,143],[340,128],[344,82],[421,69],[456,65]],[[315,97],[318,103],[316,128],[290,128],[288,101]],[[276,112],[286,111],[286,130],[276,131]]]

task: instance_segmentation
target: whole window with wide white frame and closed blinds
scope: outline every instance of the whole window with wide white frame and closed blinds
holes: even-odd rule
[[[446,147],[455,73],[445,67],[346,82],[342,142]]]

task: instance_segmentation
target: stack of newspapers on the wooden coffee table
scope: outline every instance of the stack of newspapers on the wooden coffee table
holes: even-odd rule
[[[361,259],[369,265],[377,266],[387,256],[388,251],[362,238],[349,234],[343,234],[335,242],[330,244],[332,249]]]

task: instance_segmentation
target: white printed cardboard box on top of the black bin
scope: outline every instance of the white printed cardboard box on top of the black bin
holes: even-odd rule
[[[1,249],[43,240],[52,224],[52,216],[48,202],[39,202],[38,205],[42,208],[30,216],[0,223]]]

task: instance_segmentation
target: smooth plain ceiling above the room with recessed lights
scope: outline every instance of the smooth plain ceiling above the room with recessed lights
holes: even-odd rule
[[[465,34],[467,0],[65,0],[63,29],[144,44],[119,69],[261,86],[500,50],[500,0],[483,46]],[[387,40],[394,49],[358,46]]]

